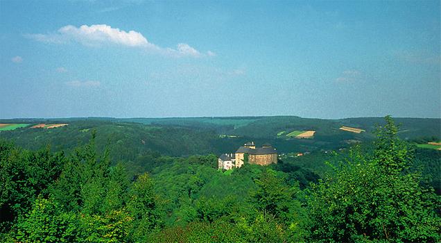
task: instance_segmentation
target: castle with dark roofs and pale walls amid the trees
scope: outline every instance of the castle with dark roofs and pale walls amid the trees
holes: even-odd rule
[[[254,142],[247,142],[237,149],[236,153],[224,153],[218,158],[219,169],[239,168],[244,162],[254,165],[270,165],[277,163],[277,150],[270,144],[260,148]]]

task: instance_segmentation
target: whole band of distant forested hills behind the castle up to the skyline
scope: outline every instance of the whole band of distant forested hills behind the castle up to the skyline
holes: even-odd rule
[[[399,137],[404,140],[439,140],[441,119],[397,118]],[[234,152],[250,140],[269,142],[279,153],[338,150],[354,143],[370,142],[382,118],[309,119],[302,117],[200,117],[200,118],[133,118],[108,117],[69,119],[10,119],[0,124],[65,123],[59,128],[16,128],[0,131],[0,137],[26,149],[47,144],[53,151],[71,150],[89,140],[89,131],[97,133],[98,149],[108,145],[112,158],[135,160],[144,153],[189,156]],[[342,126],[359,128],[361,133],[340,130]],[[315,131],[313,137],[298,139],[303,131]]]

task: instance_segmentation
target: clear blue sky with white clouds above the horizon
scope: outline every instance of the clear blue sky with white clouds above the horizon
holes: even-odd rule
[[[0,1],[0,118],[441,117],[440,1]]]

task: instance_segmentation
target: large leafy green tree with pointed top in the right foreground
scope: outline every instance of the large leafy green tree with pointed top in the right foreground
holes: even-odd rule
[[[390,117],[377,135],[373,156],[355,148],[334,175],[311,188],[311,240],[440,240],[440,200],[407,170],[411,152]]]

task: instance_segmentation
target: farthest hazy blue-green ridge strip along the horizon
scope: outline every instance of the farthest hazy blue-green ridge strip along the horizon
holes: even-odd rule
[[[7,121],[21,121],[14,119]],[[27,119],[38,122],[44,119]],[[46,119],[47,120],[47,119]],[[397,117],[395,122],[401,127],[401,138],[431,136],[441,134],[440,118]],[[1,122],[7,122],[5,120]],[[220,134],[246,135],[250,137],[276,137],[284,130],[315,130],[318,135],[337,134],[341,126],[361,128],[372,133],[377,124],[384,124],[383,117],[356,117],[346,119],[315,119],[296,116],[273,117],[171,117],[171,118],[113,118],[113,117],[77,117],[67,119],[49,119],[49,121],[111,121],[132,122],[148,125],[181,126],[213,130]],[[372,138],[372,136],[371,136]]]

